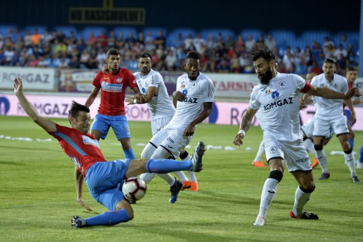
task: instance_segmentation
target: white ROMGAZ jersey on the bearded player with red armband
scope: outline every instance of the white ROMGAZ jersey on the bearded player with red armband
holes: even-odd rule
[[[299,118],[299,92],[307,92],[310,85],[294,74],[277,75],[268,85],[253,88],[250,108],[263,115],[264,138],[295,141],[302,138]]]

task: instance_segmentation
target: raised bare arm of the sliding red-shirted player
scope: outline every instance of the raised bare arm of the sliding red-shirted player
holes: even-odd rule
[[[33,122],[41,126],[46,132],[57,131],[56,124],[54,124],[54,122],[50,121],[48,118],[40,116],[35,108],[29,103],[28,99],[26,99],[23,93],[23,82],[20,77],[17,77],[14,80],[14,92],[21,107],[33,120]]]

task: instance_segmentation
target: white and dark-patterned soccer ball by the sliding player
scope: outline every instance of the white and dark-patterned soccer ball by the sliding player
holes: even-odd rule
[[[142,199],[146,193],[146,182],[137,176],[127,178],[122,185],[123,196],[127,200],[137,201]]]

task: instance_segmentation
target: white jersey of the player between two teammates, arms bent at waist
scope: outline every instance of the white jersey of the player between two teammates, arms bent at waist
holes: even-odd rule
[[[179,76],[176,91],[184,94],[184,101],[178,101],[176,112],[170,123],[165,127],[181,132],[204,110],[204,103],[214,100],[214,85],[208,76],[200,73],[195,81],[188,75]]]

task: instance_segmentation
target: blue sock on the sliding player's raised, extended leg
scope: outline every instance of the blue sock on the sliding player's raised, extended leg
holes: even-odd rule
[[[150,159],[146,163],[146,170],[149,173],[165,174],[172,171],[190,171],[192,167],[193,163],[191,160]]]

